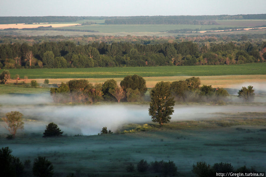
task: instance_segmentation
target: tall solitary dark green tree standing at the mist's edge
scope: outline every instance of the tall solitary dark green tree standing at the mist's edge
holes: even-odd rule
[[[171,97],[170,82],[158,82],[151,90],[149,115],[153,122],[161,126],[170,122],[174,112],[175,101]]]

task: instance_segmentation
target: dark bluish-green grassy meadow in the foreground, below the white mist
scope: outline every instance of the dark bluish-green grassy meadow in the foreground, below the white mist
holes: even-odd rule
[[[219,113],[218,113],[219,115]],[[225,113],[218,119],[177,121],[162,128],[155,123],[128,124],[119,134],[96,136],[63,136],[42,138],[44,130],[26,131],[16,139],[5,139],[1,127],[0,144],[13,150],[20,160],[45,156],[54,165],[55,176],[159,176],[160,174],[134,171],[129,173],[129,163],[137,166],[141,159],[174,161],[180,177],[194,176],[192,165],[198,161],[231,163],[239,168],[253,166],[265,171],[265,113]],[[3,122],[0,122],[2,125]],[[26,124],[38,124],[26,122]],[[29,128],[29,126],[28,126]],[[45,127],[43,127],[44,129]],[[34,128],[33,128],[34,129]],[[131,130],[124,133],[123,130]],[[62,129],[64,131],[64,129]],[[31,133],[30,133],[31,132]],[[29,175],[30,176],[30,175]]]

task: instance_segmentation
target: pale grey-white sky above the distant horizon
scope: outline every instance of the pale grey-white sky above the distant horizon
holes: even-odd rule
[[[0,16],[265,14],[266,0],[1,0]]]

